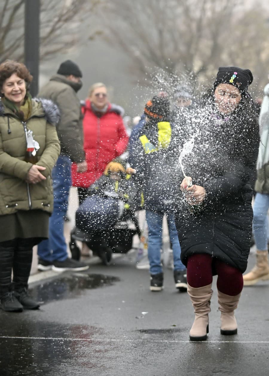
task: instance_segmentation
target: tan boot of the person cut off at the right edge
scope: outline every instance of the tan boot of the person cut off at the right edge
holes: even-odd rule
[[[255,285],[259,280],[269,279],[269,265],[268,265],[268,252],[259,251],[256,252],[256,265],[247,274],[243,276],[244,286]]]

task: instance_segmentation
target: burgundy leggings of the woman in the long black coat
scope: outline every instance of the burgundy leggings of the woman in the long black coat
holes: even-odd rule
[[[239,269],[212,258],[205,253],[188,258],[187,282],[198,288],[211,284],[212,266],[217,272],[217,289],[223,294],[236,296],[243,290],[243,275]]]

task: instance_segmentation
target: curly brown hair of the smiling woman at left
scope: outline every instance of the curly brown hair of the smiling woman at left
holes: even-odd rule
[[[29,89],[33,76],[23,63],[18,63],[14,60],[6,60],[0,64],[0,89],[2,89],[5,80],[12,76],[13,73],[23,79],[26,83],[26,89]],[[0,96],[3,96],[1,92]]]

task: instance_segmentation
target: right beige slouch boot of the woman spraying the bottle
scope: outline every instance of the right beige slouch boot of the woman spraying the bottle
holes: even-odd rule
[[[240,295],[241,293],[236,296],[226,295],[217,290],[219,310],[221,312],[220,334],[237,334],[237,322],[234,317],[234,310],[238,306]]]

